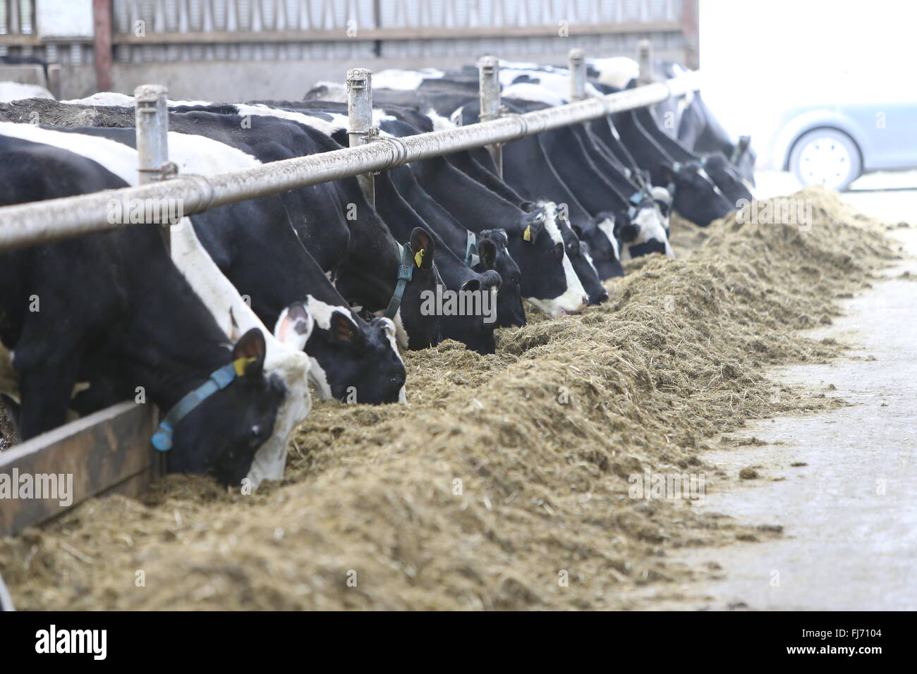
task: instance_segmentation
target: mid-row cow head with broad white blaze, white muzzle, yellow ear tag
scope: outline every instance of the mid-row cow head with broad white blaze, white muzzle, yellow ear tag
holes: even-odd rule
[[[552,316],[582,311],[589,297],[567,256],[557,207],[551,202],[528,207],[518,226],[506,229],[506,248],[522,273],[523,297]]]

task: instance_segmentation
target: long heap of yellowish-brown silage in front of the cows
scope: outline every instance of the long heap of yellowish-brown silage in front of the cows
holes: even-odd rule
[[[765,368],[840,352],[802,328],[896,257],[878,224],[809,189],[812,231],[676,224],[679,260],[636,260],[611,300],[406,356],[410,406],[316,403],[285,480],[253,495],[171,476],[0,541],[17,607],[603,609],[703,571],[679,547],[779,536],[635,474],[735,480],[703,450],[746,419],[843,404]],[[219,432],[215,429],[215,433]],[[753,545],[753,543],[749,543]]]

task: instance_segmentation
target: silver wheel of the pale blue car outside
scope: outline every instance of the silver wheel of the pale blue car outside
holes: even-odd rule
[[[790,171],[803,185],[824,185],[843,192],[862,170],[863,160],[853,138],[836,128],[806,132],[790,152]]]

